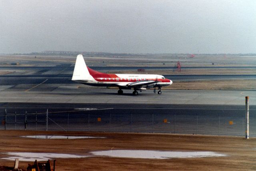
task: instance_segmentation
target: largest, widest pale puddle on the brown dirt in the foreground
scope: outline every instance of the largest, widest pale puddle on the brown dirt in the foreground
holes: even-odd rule
[[[128,157],[141,159],[170,159],[170,158],[200,158],[200,157],[223,157],[226,156],[212,151],[150,151],[150,150],[108,150],[94,151],[93,155],[109,157]]]

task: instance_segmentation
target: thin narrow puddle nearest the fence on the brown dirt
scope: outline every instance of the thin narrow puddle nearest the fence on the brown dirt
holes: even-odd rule
[[[28,135],[21,136],[25,138],[36,139],[85,139],[85,138],[106,138],[106,137],[89,137],[89,136],[63,136],[63,135]]]

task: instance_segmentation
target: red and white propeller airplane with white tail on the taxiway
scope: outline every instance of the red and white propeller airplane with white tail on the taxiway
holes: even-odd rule
[[[98,87],[118,87],[118,94],[123,94],[122,89],[134,89],[133,95],[138,95],[138,91],[146,91],[150,88],[154,88],[156,92],[156,87],[158,87],[158,94],[162,94],[161,87],[172,84],[172,80],[155,74],[101,73],[86,66],[81,54],[76,57],[72,81]]]

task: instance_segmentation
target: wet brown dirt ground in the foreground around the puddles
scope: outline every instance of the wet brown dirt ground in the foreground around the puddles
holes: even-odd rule
[[[29,139],[21,135],[103,136],[104,139]],[[88,155],[91,151],[140,149],[158,151],[213,151],[226,157],[134,159],[88,157],[56,159],[56,170],[256,170],[256,138],[171,135],[150,133],[92,133],[60,131],[0,131],[0,158],[6,152],[67,153]],[[52,159],[53,160],[53,159]],[[20,161],[26,169],[28,163]],[[14,161],[0,159],[0,166]]]

